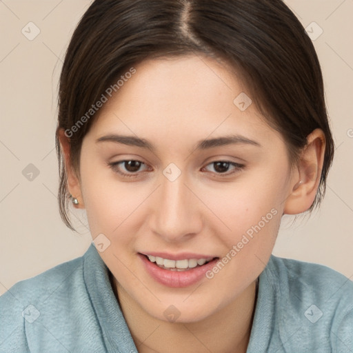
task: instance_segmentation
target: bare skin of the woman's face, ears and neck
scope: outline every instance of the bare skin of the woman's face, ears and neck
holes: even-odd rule
[[[323,163],[321,130],[308,137],[292,168],[285,141],[254,104],[234,99],[247,92],[225,65],[196,56],[145,61],[99,112],[83,139],[79,175],[61,132],[68,188],[85,208],[92,238],[110,246],[100,255],[139,352],[245,352],[255,304],[255,281],[270,258],[283,214],[304,212],[314,201]],[[154,151],[112,141],[109,134],[148,140]],[[195,150],[204,139],[241,135],[237,143]],[[131,172],[124,163],[141,161]],[[213,163],[230,161],[222,177]],[[174,163],[181,175],[163,170]],[[118,171],[136,174],[122,177]],[[218,172],[218,174],[217,174]],[[233,172],[233,173],[232,173]],[[231,174],[232,173],[232,174]],[[299,184],[299,181],[301,183]],[[212,279],[186,288],[154,281],[137,253],[192,252],[222,258],[270,211],[276,213]],[[176,322],[163,314],[174,305]]]

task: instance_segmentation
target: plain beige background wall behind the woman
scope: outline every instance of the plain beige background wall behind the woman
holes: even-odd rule
[[[305,28],[315,21],[323,29],[314,45],[325,77],[336,159],[320,212],[295,225],[284,219],[274,254],[321,263],[353,279],[353,1],[286,3]],[[84,212],[74,211],[79,234],[59,217],[54,150],[61,62],[89,4],[0,1],[0,294],[21,279],[81,256],[90,245]],[[21,32],[30,21],[41,31],[32,41]],[[32,181],[22,174],[30,163],[39,170]]]

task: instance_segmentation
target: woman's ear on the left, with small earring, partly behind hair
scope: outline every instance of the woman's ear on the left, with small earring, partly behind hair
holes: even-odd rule
[[[79,181],[79,177],[77,176],[74,168],[72,167],[72,163],[70,161],[70,139],[65,135],[63,129],[60,129],[58,132],[58,137],[60,141],[61,151],[63,152],[63,158],[65,160],[65,169],[66,174],[68,176],[68,191],[77,199],[79,203],[74,205],[75,208],[85,208],[83,203],[82,193],[81,193],[81,185]]]

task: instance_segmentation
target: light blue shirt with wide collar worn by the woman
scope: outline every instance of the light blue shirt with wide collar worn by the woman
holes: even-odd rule
[[[137,353],[94,245],[0,297],[0,352]],[[272,255],[259,277],[247,351],[265,352],[353,353],[352,281]]]

